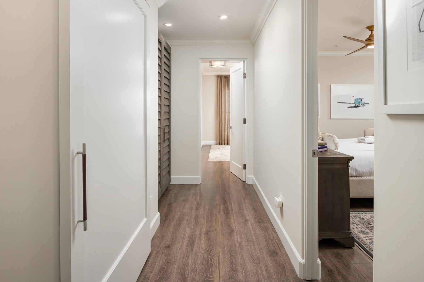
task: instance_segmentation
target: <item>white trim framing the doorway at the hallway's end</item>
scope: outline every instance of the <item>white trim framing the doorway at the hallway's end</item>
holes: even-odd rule
[[[200,85],[200,82],[201,82],[201,79],[202,79],[202,71],[201,71],[201,65],[200,65],[200,63],[201,63],[201,61],[212,61],[212,60],[224,60],[224,61],[245,61],[245,71],[246,71],[246,81],[245,81],[245,84],[246,84],[246,88],[245,88],[245,118],[246,118],[246,126],[245,126],[245,144],[246,144],[246,148],[245,148],[245,156],[246,156],[246,180],[247,180],[247,169],[248,169],[248,166],[249,166],[249,155],[248,155],[248,148],[249,148],[249,143],[248,143],[248,136],[249,136],[249,134],[248,134],[248,130],[249,130],[249,127],[248,127],[248,123],[249,123],[249,120],[248,120],[248,116],[249,116],[249,112],[248,112],[248,82],[249,82],[249,69],[248,69],[248,59],[247,58],[199,58],[198,59],[198,63],[197,63],[197,66],[198,66],[198,113],[199,113],[199,115],[198,115],[198,121],[199,121],[199,123],[198,123],[198,132],[199,132],[199,134],[198,134],[198,146],[199,146],[199,148],[198,148],[198,163],[199,163],[199,166],[198,166],[198,174],[199,174],[199,179],[200,179],[200,181],[201,181],[201,149],[202,149],[202,136],[201,136],[201,128],[202,128],[202,114],[201,114],[201,96],[202,96],[202,92],[201,92],[201,85]],[[252,120],[252,122],[253,122],[253,120]],[[249,178],[249,180],[251,180],[250,178]]]

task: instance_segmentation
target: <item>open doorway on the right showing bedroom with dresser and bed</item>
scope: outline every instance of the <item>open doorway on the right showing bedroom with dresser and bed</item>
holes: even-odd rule
[[[308,82],[318,84],[318,89],[313,91],[313,97],[308,96],[307,99],[309,103],[318,100],[315,104],[315,107],[318,105],[318,115],[310,112],[309,118],[314,123],[317,120],[318,140],[321,134],[319,131],[325,132],[321,135],[326,144],[321,145],[327,148],[318,147],[318,150],[327,151],[318,153],[318,167],[312,168],[307,174],[317,175],[318,180],[318,185],[315,186],[318,218],[313,220],[318,225],[321,274],[323,279],[329,279],[328,270],[337,268],[331,259],[337,253],[345,261],[346,267],[333,273],[332,279],[353,281],[354,278],[346,277],[357,277],[360,281],[372,281],[373,254],[365,246],[368,243],[372,245],[372,240],[367,243],[368,239],[364,239],[361,244],[360,236],[373,236],[373,222],[369,223],[368,229],[365,225],[359,225],[365,219],[373,221],[374,193],[370,182],[374,182],[374,144],[371,151],[370,144],[361,144],[357,139],[370,135],[364,133],[368,128],[374,131],[374,93],[363,91],[374,86],[374,58],[371,48],[367,49],[358,40],[349,40],[346,37],[360,40],[368,38],[370,31],[367,28],[374,22],[374,5],[369,1],[361,1],[355,7],[349,1],[337,2],[337,5],[333,0],[318,0],[317,3],[317,6],[307,4],[311,14],[317,17],[315,24],[318,23],[318,30],[310,31],[317,36],[316,46],[312,46],[313,41],[307,46],[307,49],[318,49],[318,56],[307,57],[307,68],[310,67],[311,74]],[[343,21],[347,18],[354,18],[355,21]],[[317,83],[314,79],[318,80]],[[357,96],[357,93],[361,96]],[[362,108],[354,107],[354,100],[358,97],[365,97],[368,104]],[[368,116],[367,106],[370,109]],[[314,142],[308,140],[309,145],[315,146]],[[338,167],[335,162],[330,165],[329,159],[325,160],[330,154],[333,161],[339,161],[342,166]],[[365,161],[368,157],[372,159]],[[363,166],[365,163],[370,166]],[[364,172],[369,174],[360,174]]]

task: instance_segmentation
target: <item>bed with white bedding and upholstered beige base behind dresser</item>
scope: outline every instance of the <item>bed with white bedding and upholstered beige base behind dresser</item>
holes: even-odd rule
[[[356,138],[338,141],[338,151],[354,157],[349,169],[350,197],[374,197],[374,144],[360,143]]]

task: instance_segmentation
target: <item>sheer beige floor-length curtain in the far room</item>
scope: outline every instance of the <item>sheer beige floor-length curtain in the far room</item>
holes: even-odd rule
[[[230,145],[230,76],[218,75],[217,145]]]

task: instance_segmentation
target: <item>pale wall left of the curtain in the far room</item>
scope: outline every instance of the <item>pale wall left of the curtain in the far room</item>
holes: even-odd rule
[[[202,144],[216,145],[217,77],[202,75]]]

